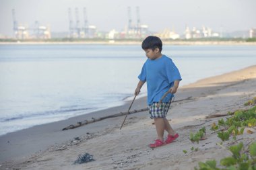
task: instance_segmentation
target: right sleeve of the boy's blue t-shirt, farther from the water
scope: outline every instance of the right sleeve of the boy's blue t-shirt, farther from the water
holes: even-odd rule
[[[176,67],[176,65],[174,65],[172,60],[166,62],[166,75],[168,77],[168,83],[173,83],[176,80],[182,80],[179,69]]]

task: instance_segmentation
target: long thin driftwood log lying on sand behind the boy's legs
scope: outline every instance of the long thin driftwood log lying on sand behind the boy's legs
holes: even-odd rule
[[[172,101],[172,103],[178,102],[178,101],[187,100],[187,99],[192,99],[192,96],[187,97],[186,99],[180,99],[180,100]],[[129,114],[135,114],[135,113],[144,112],[144,111],[147,111],[147,110],[148,110],[148,108],[143,108],[143,109],[140,109],[140,110],[132,110],[132,111],[129,112]],[[108,119],[108,118],[115,118],[115,117],[118,117],[118,116],[124,116],[126,114],[127,114],[127,112],[120,112],[119,114],[113,114],[113,115],[110,115],[110,116],[104,116],[102,118],[92,118],[92,120],[84,120],[82,122],[77,122],[76,124],[71,124],[71,125],[63,128],[62,130],[69,130],[69,129],[73,129],[73,128],[78,128],[78,127],[84,126],[86,124],[91,124],[93,122],[98,122],[100,120],[104,120],[104,119]]]

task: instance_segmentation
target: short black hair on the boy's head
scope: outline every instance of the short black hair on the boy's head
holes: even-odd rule
[[[147,49],[155,50],[156,48],[159,48],[161,52],[162,41],[157,36],[148,36],[145,40],[143,40],[141,44],[141,48],[143,50],[147,50]]]

